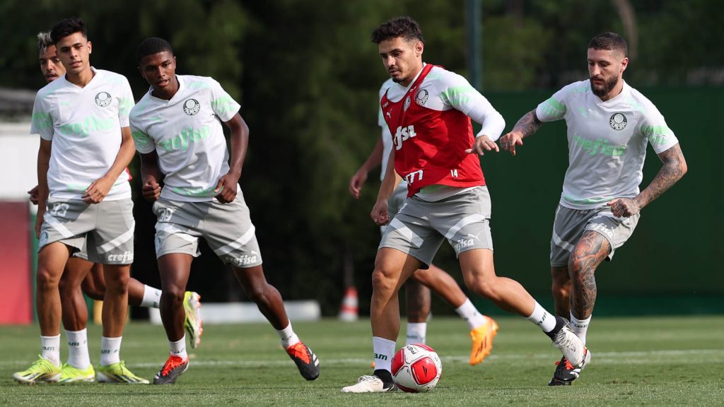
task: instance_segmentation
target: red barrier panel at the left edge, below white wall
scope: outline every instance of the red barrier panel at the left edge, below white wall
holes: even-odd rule
[[[0,324],[33,323],[28,202],[0,202]]]

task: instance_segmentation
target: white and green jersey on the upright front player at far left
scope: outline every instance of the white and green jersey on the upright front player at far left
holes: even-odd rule
[[[35,96],[30,134],[53,143],[48,188],[50,198],[81,199],[91,182],[106,175],[128,127],[133,93],[125,76],[91,68],[96,75],[80,88],[65,75]],[[104,198],[131,197],[128,173],[122,172]]]

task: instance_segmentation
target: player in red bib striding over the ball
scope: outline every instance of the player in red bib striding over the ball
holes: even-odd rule
[[[410,17],[384,22],[372,41],[395,82],[380,100],[393,148],[371,213],[376,224],[388,225],[372,274],[376,369],[342,392],[395,389],[390,364],[400,331],[397,292],[416,269],[429,266],[442,240],[455,249],[468,288],[541,327],[571,363],[583,368],[590,353],[565,319],[543,309],[515,280],[495,275],[490,197],[478,154],[498,150],[502,116],[465,78],[422,62],[424,38]],[[477,135],[471,119],[482,125]],[[387,201],[400,177],[408,182],[408,198],[390,219]]]

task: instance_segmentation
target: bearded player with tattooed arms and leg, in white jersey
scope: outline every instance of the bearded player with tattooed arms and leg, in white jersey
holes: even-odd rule
[[[595,36],[588,66],[589,80],[566,85],[500,138],[502,148],[515,156],[523,138],[542,123],[565,119],[568,170],[550,243],[552,293],[557,316],[570,317],[571,329],[584,343],[596,302],[597,267],[626,243],[641,209],[686,174],[678,140],[664,117],[623,80],[626,41],[615,33]],[[649,143],[663,165],[639,190]],[[570,385],[578,374],[564,356],[549,385]]]

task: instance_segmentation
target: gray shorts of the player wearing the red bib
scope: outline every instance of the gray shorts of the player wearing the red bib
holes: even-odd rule
[[[379,247],[395,248],[429,267],[443,239],[455,249],[455,256],[474,248],[492,250],[489,219],[490,195],[486,187],[437,202],[412,196],[387,225]]]

